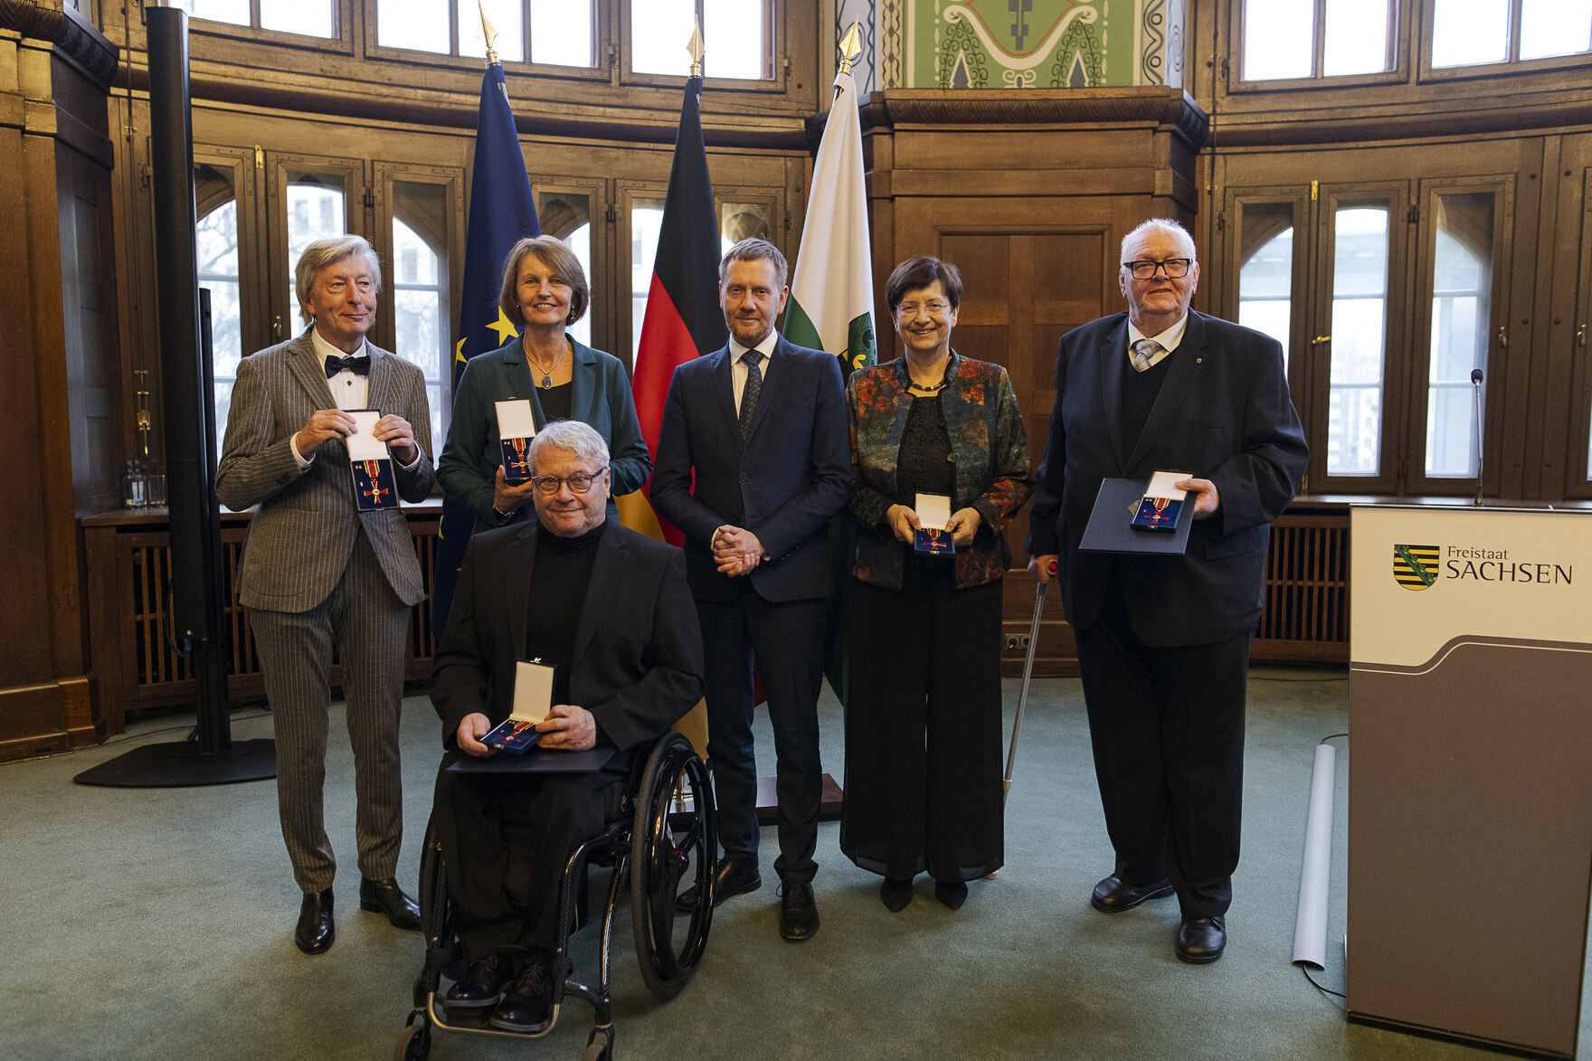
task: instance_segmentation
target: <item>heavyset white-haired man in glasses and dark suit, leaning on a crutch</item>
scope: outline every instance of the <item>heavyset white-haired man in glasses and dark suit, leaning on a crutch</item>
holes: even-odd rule
[[[1176,892],[1173,949],[1205,964],[1227,943],[1270,521],[1293,500],[1309,448],[1278,343],[1189,312],[1199,261],[1181,225],[1145,221],[1121,261],[1127,312],[1062,336],[1028,569],[1049,581],[1059,566],[1078,640],[1116,849],[1091,902],[1119,913]],[[1079,551],[1102,480],[1172,470],[1194,507],[1183,556]]]

